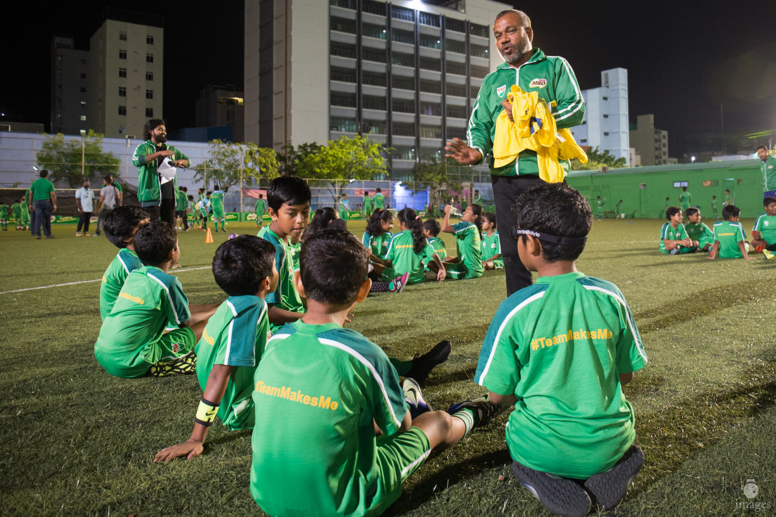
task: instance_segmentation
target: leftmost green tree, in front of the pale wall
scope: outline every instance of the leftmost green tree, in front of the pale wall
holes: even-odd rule
[[[121,161],[113,153],[102,152],[102,137],[92,129],[81,140],[65,140],[61,133],[44,135],[43,146],[36,153],[35,159],[41,168],[50,171],[52,181],[64,180],[71,187],[81,186],[84,178],[94,180],[105,174],[116,177]]]

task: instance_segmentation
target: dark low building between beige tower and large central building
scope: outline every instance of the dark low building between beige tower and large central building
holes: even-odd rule
[[[232,84],[208,85],[196,100],[196,127],[230,127],[232,142],[244,140],[243,92]]]

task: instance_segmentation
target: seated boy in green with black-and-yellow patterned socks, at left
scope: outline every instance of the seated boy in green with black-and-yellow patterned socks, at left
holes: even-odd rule
[[[134,246],[146,265],[126,277],[102,322],[95,358],[116,377],[192,374],[194,346],[218,304],[189,306],[178,278],[167,274],[180,256],[175,226],[140,226]]]

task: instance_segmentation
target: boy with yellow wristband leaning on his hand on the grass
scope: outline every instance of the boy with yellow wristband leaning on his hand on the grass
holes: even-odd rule
[[[278,283],[275,246],[252,235],[227,240],[213,257],[213,277],[229,298],[210,317],[196,346],[203,396],[194,430],[185,442],[159,451],[154,463],[199,456],[216,416],[230,431],[254,425],[253,377],[270,336],[264,298]]]

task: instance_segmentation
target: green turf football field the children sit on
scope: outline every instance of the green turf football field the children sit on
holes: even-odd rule
[[[577,264],[622,289],[650,358],[624,388],[646,464],[622,505],[601,515],[755,514],[736,508],[744,502],[760,503],[756,515],[776,515],[776,260],[662,255],[661,224],[595,222]],[[350,229],[360,237],[364,223]],[[102,371],[94,357],[99,282],[5,292],[99,279],[116,248],[73,234],[74,226],[55,226],[54,240],[0,234],[0,515],[262,515],[248,491],[247,431],[213,426],[201,457],[152,463],[162,447],[188,438],[201,391],[196,376]],[[200,231],[180,236],[183,268],[204,267],[176,273],[192,303],[225,298],[209,266],[226,235],[213,236],[215,244]],[[472,378],[504,293],[503,272],[489,271],[370,295],[352,328],[400,358],[450,339],[449,361],[424,388],[444,408],[481,393]],[[428,460],[386,515],[550,515],[509,472],[506,419]],[[743,495],[747,479],[757,480],[757,498]]]

